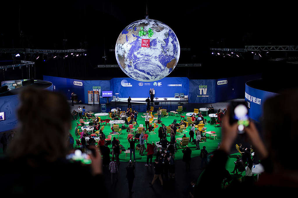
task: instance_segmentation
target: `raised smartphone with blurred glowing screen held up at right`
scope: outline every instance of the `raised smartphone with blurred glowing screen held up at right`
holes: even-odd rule
[[[243,102],[232,102],[230,105],[230,124],[238,124],[238,133],[244,133],[244,127],[249,125],[248,109]]]

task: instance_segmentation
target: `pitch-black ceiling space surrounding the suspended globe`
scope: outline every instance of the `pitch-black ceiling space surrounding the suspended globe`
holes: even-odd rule
[[[87,48],[83,60],[49,60],[36,63],[36,78],[42,75],[61,77],[110,78],[110,69],[93,69],[104,64],[117,64],[113,49],[120,32],[130,23],[142,19],[148,1],[10,1],[0,6],[0,48],[74,49]],[[149,18],[162,21],[176,33],[181,48],[179,63],[202,63],[201,68],[177,68],[170,76],[217,78],[246,73],[265,73],[268,61],[252,57],[215,58],[210,47],[244,48],[245,45],[297,45],[294,26],[296,7],[271,1],[149,1]],[[63,39],[67,39],[63,45]],[[277,56],[284,56],[278,54]],[[2,60],[7,57],[0,56]],[[82,58],[81,58],[82,59]],[[251,69],[254,65],[258,69]],[[263,68],[260,66],[266,65]],[[52,68],[54,67],[54,69]],[[63,67],[63,72],[55,68]],[[80,67],[80,68],[79,68]],[[68,68],[68,69],[67,69]],[[71,71],[76,68],[75,71]],[[250,68],[250,69],[247,69]],[[115,69],[115,76],[125,74]],[[193,72],[195,71],[195,72]],[[201,75],[204,73],[205,75]],[[216,74],[218,73],[218,74]],[[7,78],[16,78],[15,72]],[[20,78],[20,73],[17,74]],[[23,74],[24,75],[24,74]],[[1,79],[2,80],[2,79]]]

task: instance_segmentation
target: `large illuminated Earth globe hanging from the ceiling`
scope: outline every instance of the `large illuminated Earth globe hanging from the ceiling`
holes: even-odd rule
[[[140,34],[142,31],[145,31],[144,35]],[[142,47],[143,39],[150,40],[146,47]],[[173,71],[179,60],[180,45],[169,26],[158,20],[142,19],[121,32],[115,55],[126,75],[138,81],[152,82]]]

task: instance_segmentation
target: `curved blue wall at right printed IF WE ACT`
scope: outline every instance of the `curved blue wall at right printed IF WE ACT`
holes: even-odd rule
[[[263,104],[266,99],[276,96],[277,93],[263,91],[245,85],[245,102],[248,106],[248,115],[250,118],[260,121],[263,115]]]

